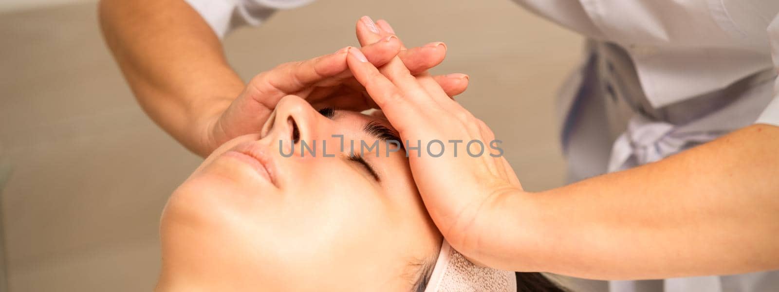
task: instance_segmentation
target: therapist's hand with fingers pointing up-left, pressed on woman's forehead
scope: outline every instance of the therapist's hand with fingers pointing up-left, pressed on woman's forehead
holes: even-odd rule
[[[365,86],[383,114],[408,142],[411,172],[425,207],[449,244],[474,262],[499,255],[493,207],[523,193],[490,128],[448,97],[431,76],[413,76],[395,58],[381,69],[359,50],[347,57],[354,77]],[[440,157],[442,141],[444,149]],[[460,141],[457,147],[453,142]],[[471,142],[471,152],[467,144]],[[483,146],[483,153],[480,154]],[[408,146],[417,146],[409,150]],[[492,147],[491,147],[492,146]],[[428,149],[430,152],[428,152]],[[478,155],[477,155],[478,154]],[[471,156],[473,155],[473,156]],[[497,222],[500,222],[499,220]],[[488,246],[489,245],[489,246]]]

